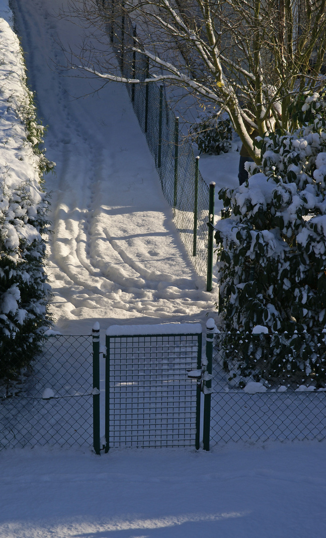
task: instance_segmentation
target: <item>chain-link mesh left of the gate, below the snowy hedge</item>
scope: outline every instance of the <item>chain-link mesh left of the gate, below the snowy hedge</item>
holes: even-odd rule
[[[29,367],[0,381],[0,449],[46,444],[92,444],[91,336],[50,336]]]

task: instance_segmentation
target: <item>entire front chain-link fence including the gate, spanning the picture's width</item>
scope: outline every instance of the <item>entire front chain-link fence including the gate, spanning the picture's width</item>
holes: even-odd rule
[[[151,328],[146,327],[149,334],[140,334],[141,326],[137,334],[131,334],[131,327],[126,335],[121,327],[108,331],[106,451],[199,448],[201,390],[207,450],[209,444],[229,441],[326,438],[326,388],[315,372],[295,387],[281,378],[257,383],[234,376],[223,365],[221,345],[230,335],[219,334],[213,346],[213,327],[207,332],[208,362],[204,357],[201,370],[200,325],[183,328],[183,334],[166,325]],[[12,363],[11,376],[0,382],[0,449],[37,444],[89,447],[93,440],[99,454],[99,390],[92,388],[99,387],[99,335],[93,338],[92,346],[91,336],[50,336],[30,366],[15,374]],[[288,345],[288,338],[284,342]],[[15,358],[14,346],[9,349],[6,342],[6,350],[0,348],[2,361]]]

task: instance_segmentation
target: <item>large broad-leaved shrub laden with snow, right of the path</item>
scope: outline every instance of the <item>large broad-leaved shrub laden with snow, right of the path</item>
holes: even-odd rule
[[[262,165],[250,164],[248,183],[219,193],[227,217],[216,226],[221,318],[231,332],[224,367],[255,380],[324,386],[324,95],[301,96],[292,115],[298,129],[258,139]],[[269,335],[251,336],[255,325]]]

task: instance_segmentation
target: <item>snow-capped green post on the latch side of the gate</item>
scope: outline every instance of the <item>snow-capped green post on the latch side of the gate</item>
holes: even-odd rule
[[[209,450],[209,437],[211,428],[211,392],[212,392],[212,362],[214,344],[215,322],[213,318],[206,323],[206,358],[207,366],[204,373],[204,423],[202,444],[204,450]]]

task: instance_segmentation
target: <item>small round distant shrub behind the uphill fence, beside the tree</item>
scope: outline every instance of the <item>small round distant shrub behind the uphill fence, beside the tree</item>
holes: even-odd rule
[[[199,153],[220,155],[231,150],[232,128],[229,119],[210,116],[192,126],[192,140],[197,144]]]

